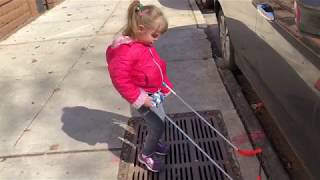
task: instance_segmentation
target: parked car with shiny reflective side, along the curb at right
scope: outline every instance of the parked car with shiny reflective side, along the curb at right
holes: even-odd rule
[[[300,11],[297,24],[294,4]],[[246,76],[308,179],[317,180],[319,7],[319,0],[214,0],[223,59]]]

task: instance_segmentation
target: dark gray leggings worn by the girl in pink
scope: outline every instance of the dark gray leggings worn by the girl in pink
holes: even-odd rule
[[[142,153],[144,155],[150,155],[155,152],[157,144],[164,132],[165,112],[162,104],[152,108],[142,106],[138,109],[138,112],[145,119],[148,128],[148,135]]]

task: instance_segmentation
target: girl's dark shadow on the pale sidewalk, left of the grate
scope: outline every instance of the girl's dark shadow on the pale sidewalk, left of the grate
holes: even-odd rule
[[[130,131],[128,117],[83,106],[63,108],[61,121],[62,130],[73,139],[89,145],[106,143],[110,152],[120,150],[124,132]]]

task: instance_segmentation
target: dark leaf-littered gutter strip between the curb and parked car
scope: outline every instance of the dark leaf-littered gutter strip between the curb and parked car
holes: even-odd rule
[[[262,147],[263,153],[259,157],[263,171],[268,179],[290,180],[288,173],[283,168],[281,161],[275,153],[270,141],[267,138],[255,138],[255,134],[260,132],[264,135],[264,130],[261,127],[258,119],[253,114],[247,100],[245,99],[241,87],[236,82],[233,74],[229,70],[219,69],[220,77],[234,103],[234,106],[239,114],[241,123],[243,124],[250,143],[253,147]],[[240,160],[238,159],[239,163]]]

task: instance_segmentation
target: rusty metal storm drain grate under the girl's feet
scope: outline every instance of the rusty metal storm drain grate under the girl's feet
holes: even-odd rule
[[[209,123],[226,134],[219,111],[199,112]],[[171,114],[170,118],[186,132],[220,167],[235,177],[235,166],[223,140],[194,113]],[[160,173],[152,173],[137,159],[147,135],[142,118],[129,121],[133,132],[127,131],[123,144],[118,179],[120,180],[223,180],[227,179],[196,147],[194,147],[170,122],[165,123],[164,141],[170,144],[167,156],[158,158],[164,162]],[[131,146],[129,145],[131,144]],[[235,178],[239,179],[239,178]]]

